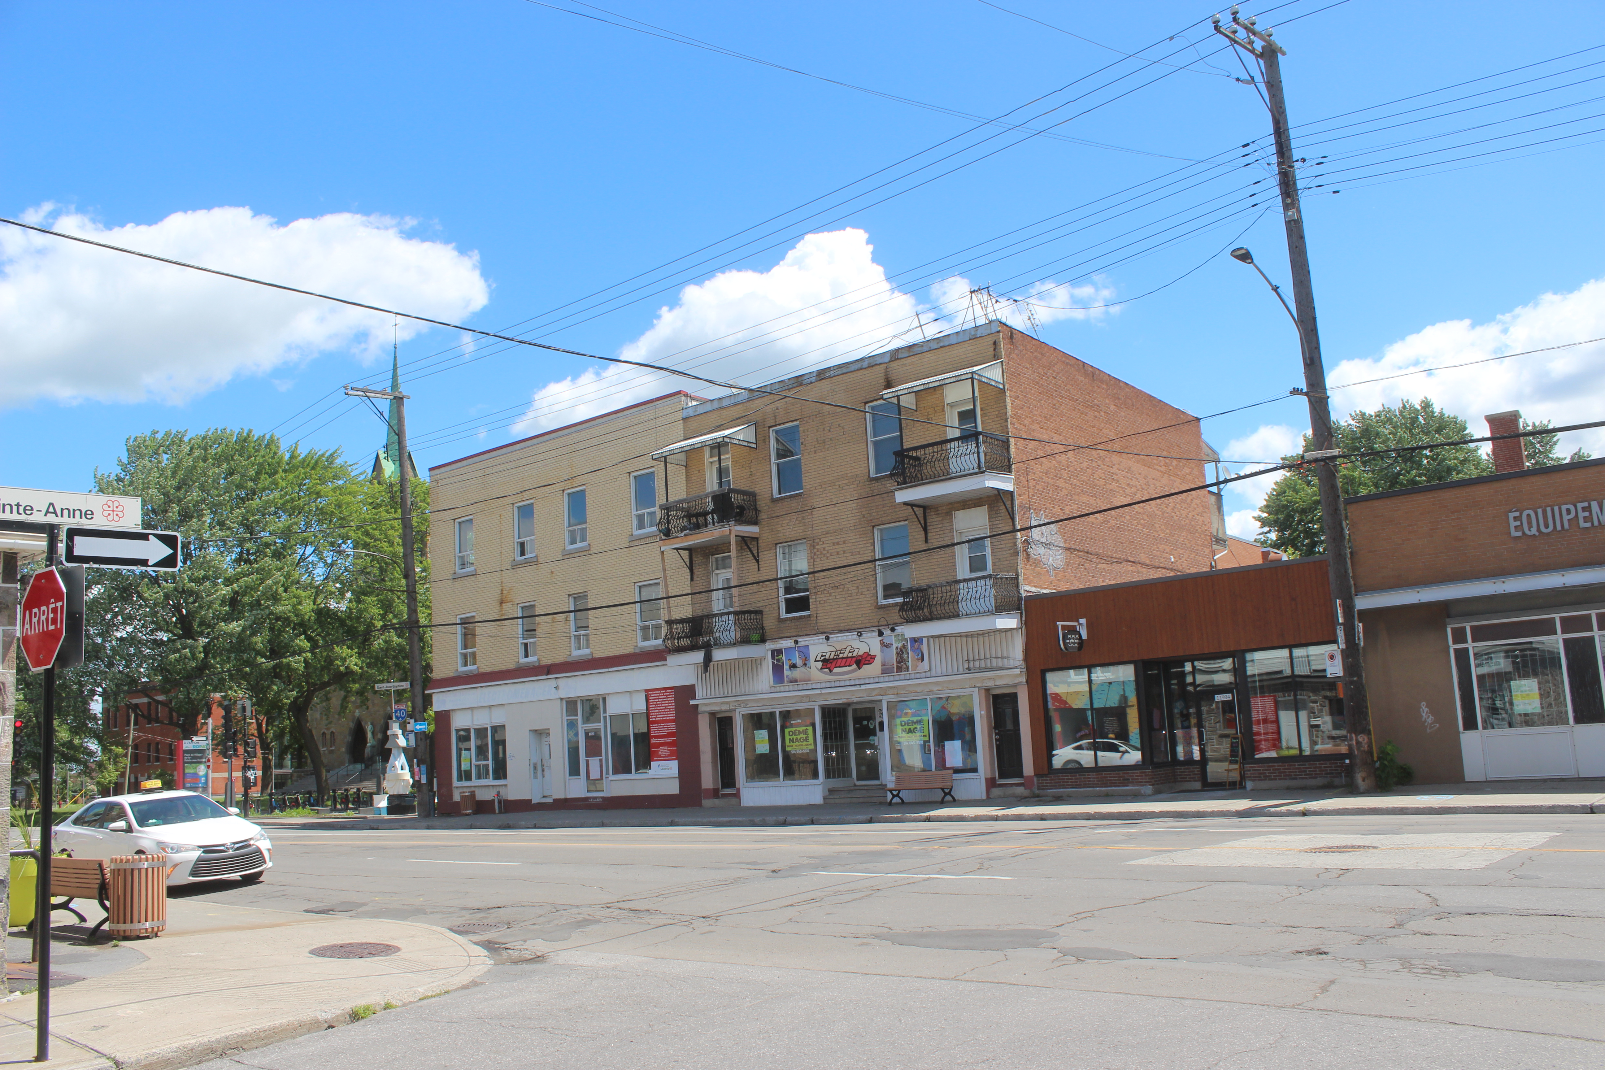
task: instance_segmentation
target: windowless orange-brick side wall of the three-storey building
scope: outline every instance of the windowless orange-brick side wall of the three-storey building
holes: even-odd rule
[[[1189,414],[1027,334],[1003,327],[1002,335],[1011,433],[1069,444],[1117,440],[1107,446],[1125,451],[1014,440],[1021,525],[1030,523],[1030,510],[1069,517],[1205,480],[1204,443]],[[1050,573],[1027,557],[1021,581],[1029,587],[1066,590],[1196,573],[1213,555],[1205,491],[1061,523],[1058,533],[1064,568]]]

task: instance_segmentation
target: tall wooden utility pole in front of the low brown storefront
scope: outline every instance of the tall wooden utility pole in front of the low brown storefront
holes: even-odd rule
[[[1371,704],[1366,695],[1366,666],[1359,651],[1359,618],[1355,613],[1355,576],[1348,561],[1348,526],[1343,523],[1343,496],[1332,462],[1340,451],[1332,435],[1332,412],[1326,396],[1326,366],[1321,363],[1321,334],[1314,322],[1314,287],[1310,282],[1310,250],[1305,244],[1303,210],[1298,205],[1298,173],[1294,141],[1287,130],[1287,101],[1282,98],[1281,56],[1287,50],[1271,37],[1270,27],[1257,29],[1257,19],[1231,8],[1231,22],[1239,37],[1213,19],[1215,32],[1260,61],[1265,90],[1270,96],[1271,133],[1276,138],[1276,181],[1282,194],[1282,225],[1287,229],[1287,260],[1292,266],[1294,310],[1298,324],[1298,347],[1303,353],[1305,399],[1310,403],[1310,440],[1314,449],[1305,460],[1314,464],[1321,491],[1321,528],[1326,534],[1327,581],[1332,587],[1337,624],[1337,650],[1343,659],[1343,715],[1348,725],[1348,749],[1353,762],[1356,792],[1377,789],[1375,757],[1371,740]],[[1258,47],[1255,47],[1258,42]]]

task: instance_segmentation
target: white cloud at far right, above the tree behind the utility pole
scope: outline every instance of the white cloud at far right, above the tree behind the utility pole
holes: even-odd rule
[[[1395,342],[1380,356],[1343,361],[1331,369],[1327,382],[1332,383],[1332,415],[1342,419],[1350,412],[1374,411],[1384,404],[1432,398],[1433,404],[1462,417],[1473,436],[1488,433],[1483,415],[1507,409],[1522,409],[1522,415],[1530,420],[1550,420],[1557,425],[1587,424],[1599,419],[1599,412],[1605,409],[1605,342],[1512,356],[1507,361],[1473,361],[1602,337],[1605,337],[1605,279],[1586,282],[1570,294],[1544,294],[1536,302],[1491,322],[1472,324],[1470,319],[1438,322]],[[1342,388],[1343,383],[1361,383],[1444,364],[1467,366]],[[1263,425],[1252,435],[1228,443],[1223,456],[1271,460],[1294,452],[1298,448],[1298,430],[1287,425]],[[1592,430],[1562,436],[1562,452],[1578,446],[1599,456],[1605,452],[1605,433]],[[1233,501],[1252,505],[1228,515],[1228,529],[1233,534],[1252,533],[1252,515],[1260,509],[1276,478],[1266,475],[1231,484],[1228,492]]]

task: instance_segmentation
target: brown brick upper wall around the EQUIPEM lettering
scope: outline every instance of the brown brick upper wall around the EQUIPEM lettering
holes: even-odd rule
[[[1605,563],[1605,528],[1570,520],[1512,536],[1510,510],[1599,502],[1605,459],[1348,504],[1356,590],[1392,590]],[[1520,523],[1520,517],[1517,518]]]

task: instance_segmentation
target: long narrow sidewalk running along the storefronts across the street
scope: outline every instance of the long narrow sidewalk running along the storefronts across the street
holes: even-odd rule
[[[1156,818],[1382,817],[1409,813],[1605,813],[1605,780],[1411,784],[1392,792],[1186,791],[1164,796],[987,799],[958,804],[682,807],[655,810],[536,810],[472,817],[324,817],[252,820],[270,828],[517,829],[742,828],[772,825],[894,825],[904,821],[1143,821]]]

